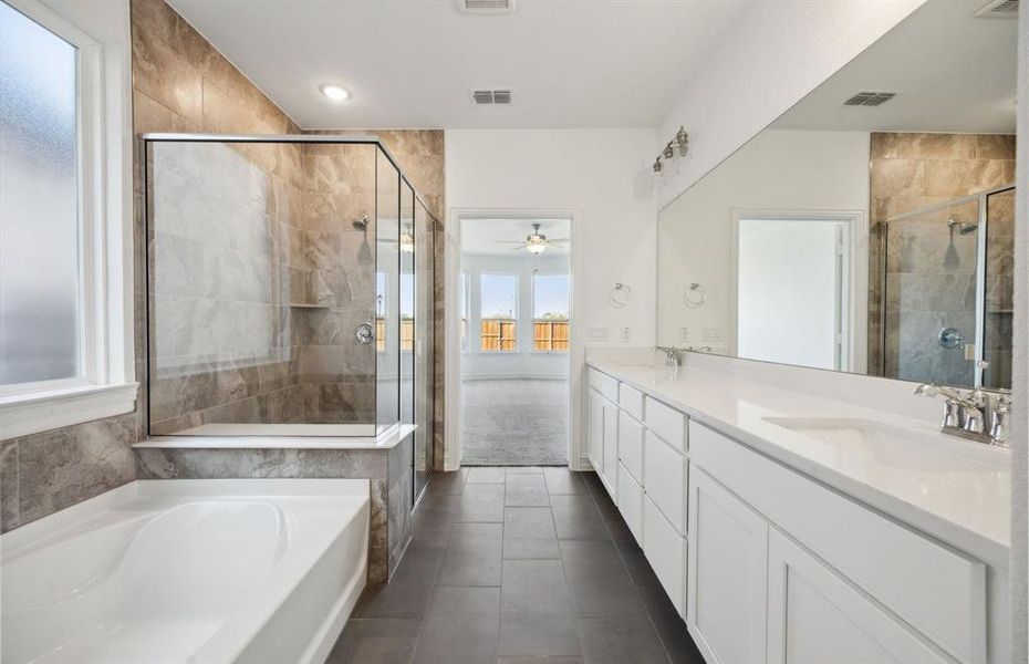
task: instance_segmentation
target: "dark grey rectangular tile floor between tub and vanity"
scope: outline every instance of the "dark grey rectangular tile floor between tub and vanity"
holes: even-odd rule
[[[595,474],[437,473],[331,664],[703,664]]]

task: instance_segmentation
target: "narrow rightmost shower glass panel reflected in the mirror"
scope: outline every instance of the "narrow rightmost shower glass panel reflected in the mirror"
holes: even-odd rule
[[[983,321],[983,386],[1011,387],[1011,322],[1015,309],[1015,189],[986,197],[986,261]]]

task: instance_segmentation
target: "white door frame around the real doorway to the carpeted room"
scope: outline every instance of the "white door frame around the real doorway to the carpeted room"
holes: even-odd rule
[[[444,470],[460,468],[460,311],[457,297],[460,288],[461,221],[485,219],[568,219],[572,247],[569,260],[569,304],[571,334],[569,334],[569,439],[568,463],[572,470],[589,468],[583,457],[582,432],[585,408],[582,407],[582,373],[585,364],[585,335],[580,321],[583,298],[579,295],[575,279],[582,274],[581,222],[582,211],[569,208],[451,208],[445,229],[444,281]],[[450,293],[454,297],[450,297]]]

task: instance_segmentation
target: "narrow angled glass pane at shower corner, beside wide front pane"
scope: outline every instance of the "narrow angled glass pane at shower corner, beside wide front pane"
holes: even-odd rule
[[[401,172],[383,153],[375,199],[375,422],[382,433],[401,419]]]

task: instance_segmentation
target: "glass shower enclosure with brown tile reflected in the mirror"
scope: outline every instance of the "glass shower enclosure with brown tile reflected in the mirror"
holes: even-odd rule
[[[882,238],[885,375],[1010,390],[1014,185],[892,217]]]

